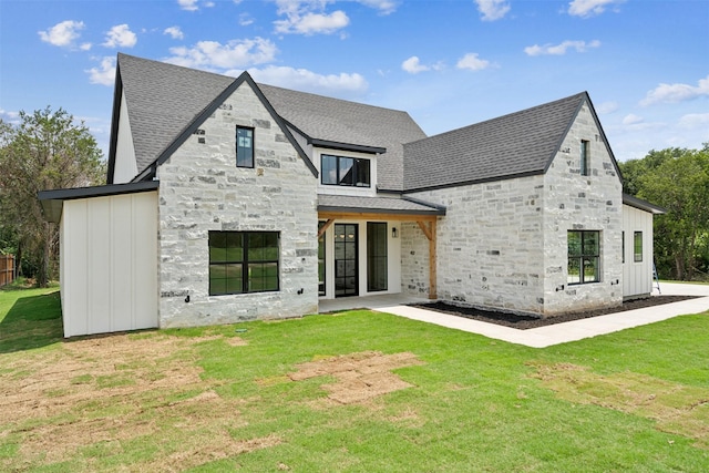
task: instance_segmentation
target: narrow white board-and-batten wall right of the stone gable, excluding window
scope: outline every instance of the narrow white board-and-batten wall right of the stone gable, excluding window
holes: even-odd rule
[[[625,264],[623,297],[633,299],[653,292],[653,214],[629,205],[623,206]],[[643,233],[643,260],[635,261],[635,233]]]

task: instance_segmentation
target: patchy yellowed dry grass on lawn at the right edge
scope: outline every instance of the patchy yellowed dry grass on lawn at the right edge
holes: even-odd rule
[[[531,363],[532,377],[571,402],[595,404],[656,421],[662,432],[696,440],[709,450],[709,389],[634,372],[602,376],[571,363]]]

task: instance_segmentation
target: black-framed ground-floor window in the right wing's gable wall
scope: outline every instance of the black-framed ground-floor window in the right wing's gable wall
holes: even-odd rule
[[[569,285],[600,281],[600,232],[568,232]]]

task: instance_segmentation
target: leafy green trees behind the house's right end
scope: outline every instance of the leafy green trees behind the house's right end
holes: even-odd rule
[[[709,146],[650,151],[620,171],[624,191],[667,209],[655,218],[655,254],[677,279],[691,280],[709,233]]]

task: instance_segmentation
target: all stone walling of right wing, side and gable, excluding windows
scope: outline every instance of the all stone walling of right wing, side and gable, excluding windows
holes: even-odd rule
[[[579,171],[590,144],[589,176]],[[587,105],[544,175],[412,194],[444,205],[438,223],[438,297],[553,317],[619,305],[620,179]],[[602,281],[567,285],[567,232],[602,232]],[[402,226],[402,291],[428,294],[428,244]]]

